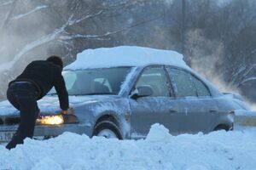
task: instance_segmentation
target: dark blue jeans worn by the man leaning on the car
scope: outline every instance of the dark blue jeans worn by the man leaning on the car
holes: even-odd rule
[[[23,140],[32,138],[39,109],[37,91],[31,82],[13,82],[7,90],[9,102],[20,111],[20,125],[12,140],[6,145],[7,149],[23,144]]]

